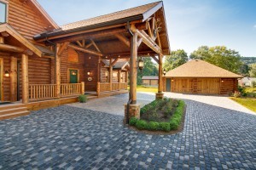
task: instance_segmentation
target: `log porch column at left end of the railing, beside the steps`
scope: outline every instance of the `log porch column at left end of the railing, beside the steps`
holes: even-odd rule
[[[28,103],[28,56],[26,54],[22,54],[21,57],[21,65],[22,65],[22,103]]]

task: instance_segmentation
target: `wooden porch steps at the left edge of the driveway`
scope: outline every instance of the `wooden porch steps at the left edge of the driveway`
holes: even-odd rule
[[[9,104],[0,106],[0,120],[10,119],[17,116],[29,115],[25,105],[22,104]]]

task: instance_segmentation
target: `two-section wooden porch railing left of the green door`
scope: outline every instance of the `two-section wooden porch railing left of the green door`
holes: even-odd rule
[[[30,84],[29,99],[56,99],[65,96],[84,94],[84,82],[82,83],[64,83],[61,84],[60,95],[57,94],[56,84]]]

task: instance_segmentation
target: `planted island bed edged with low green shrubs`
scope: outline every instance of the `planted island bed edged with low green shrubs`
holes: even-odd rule
[[[178,133],[183,130],[185,103],[177,99],[157,99],[145,105],[141,119],[131,117],[129,125],[145,133]]]

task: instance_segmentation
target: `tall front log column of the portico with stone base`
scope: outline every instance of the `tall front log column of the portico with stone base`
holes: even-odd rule
[[[129,123],[132,116],[140,118],[140,105],[137,105],[137,31],[133,31],[131,36],[129,101],[131,104],[125,104],[125,124]]]

